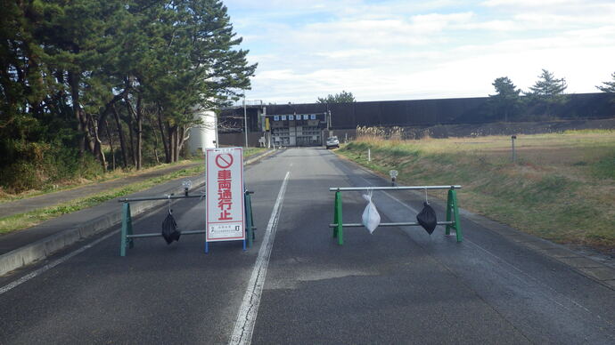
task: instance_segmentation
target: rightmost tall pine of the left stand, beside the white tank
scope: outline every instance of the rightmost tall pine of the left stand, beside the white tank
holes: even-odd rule
[[[242,38],[236,37],[221,1],[175,4],[152,28],[164,33],[151,45],[158,63],[138,75],[148,100],[159,105],[168,161],[178,159],[188,127],[199,124],[195,112],[238,100],[257,67],[248,63],[248,51],[235,48]]]

